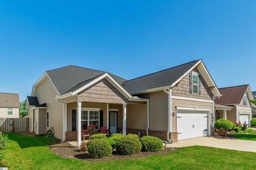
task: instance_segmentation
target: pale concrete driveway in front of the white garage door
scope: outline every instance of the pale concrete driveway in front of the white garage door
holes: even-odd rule
[[[167,147],[189,147],[189,146],[206,146],[222,149],[234,149],[240,151],[256,152],[256,141],[238,140],[238,139],[223,139],[218,137],[201,137],[187,140],[181,140],[172,144],[167,144]]]

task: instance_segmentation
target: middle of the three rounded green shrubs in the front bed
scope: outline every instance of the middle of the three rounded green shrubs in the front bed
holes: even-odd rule
[[[134,135],[127,135],[119,138],[116,141],[116,151],[119,155],[133,155],[138,154],[142,148],[139,139],[134,138]]]

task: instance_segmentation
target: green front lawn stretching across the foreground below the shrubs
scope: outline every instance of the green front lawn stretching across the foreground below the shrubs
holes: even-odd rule
[[[187,147],[140,159],[83,162],[51,152],[45,137],[9,134],[1,166],[9,169],[254,169],[256,153],[209,147]]]

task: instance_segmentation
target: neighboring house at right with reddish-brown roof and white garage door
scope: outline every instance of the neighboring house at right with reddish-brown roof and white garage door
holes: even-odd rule
[[[252,119],[253,99],[249,85],[220,88],[221,97],[215,99],[215,120],[225,118],[229,121],[249,124]]]

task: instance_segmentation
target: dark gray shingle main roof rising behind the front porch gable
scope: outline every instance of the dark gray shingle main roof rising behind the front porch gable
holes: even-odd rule
[[[81,84],[84,84],[84,82],[87,80],[91,80],[95,77],[99,77],[99,75],[106,73],[103,71],[87,69],[74,65],[69,65],[46,72],[52,80],[54,86],[59,91],[60,95],[71,92],[70,90],[76,90],[77,87],[81,86]],[[125,79],[118,77],[117,75],[110,75],[120,84],[125,81]],[[87,83],[89,82],[87,81]]]

